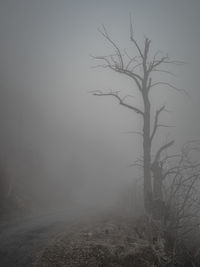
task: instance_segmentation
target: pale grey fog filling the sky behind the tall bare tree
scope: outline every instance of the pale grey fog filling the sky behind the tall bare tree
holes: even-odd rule
[[[6,196],[17,195],[31,211],[68,206],[110,208],[141,175],[128,166],[142,155],[137,115],[90,91],[133,94],[132,83],[93,68],[91,55],[112,48],[97,28],[131,51],[129,13],[140,42],[152,40],[187,64],[175,67],[173,83],[190,94],[155,89],[153,110],[167,105],[157,143],[176,140],[175,150],[198,139],[200,3],[198,0],[1,0],[0,166]],[[153,51],[152,51],[153,52]],[[133,93],[132,93],[133,92]]]

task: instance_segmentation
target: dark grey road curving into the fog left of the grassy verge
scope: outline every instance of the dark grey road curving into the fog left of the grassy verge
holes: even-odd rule
[[[30,267],[41,249],[80,217],[71,210],[0,225],[0,267]]]

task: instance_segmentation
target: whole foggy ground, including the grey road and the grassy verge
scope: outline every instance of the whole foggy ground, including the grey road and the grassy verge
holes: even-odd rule
[[[0,223],[2,267],[197,267],[199,245],[193,247],[195,253],[181,248],[172,258],[159,224],[147,216],[68,209]]]

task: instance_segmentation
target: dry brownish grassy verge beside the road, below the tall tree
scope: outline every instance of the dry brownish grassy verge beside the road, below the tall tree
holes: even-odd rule
[[[35,266],[171,266],[162,239],[147,240],[144,221],[112,216],[76,223],[41,252]]]

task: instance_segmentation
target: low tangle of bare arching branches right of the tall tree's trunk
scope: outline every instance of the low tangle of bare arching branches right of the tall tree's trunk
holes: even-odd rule
[[[193,152],[200,153],[200,141],[187,141],[179,154],[162,154],[152,164],[154,194],[164,200],[160,229],[173,259],[183,248],[188,255],[199,256],[200,161]]]

